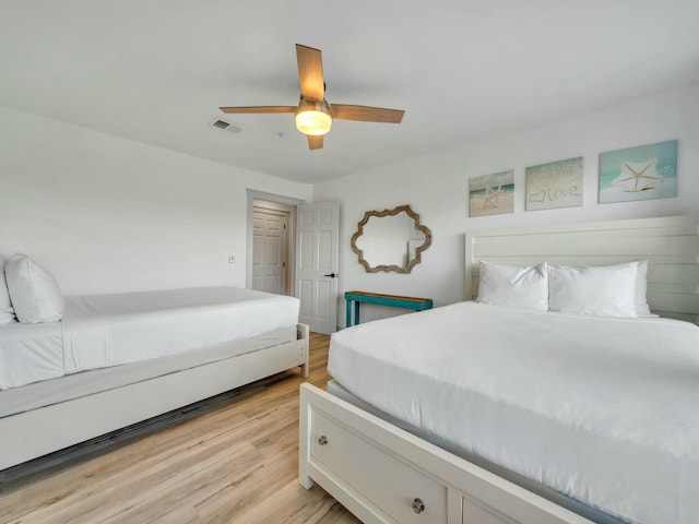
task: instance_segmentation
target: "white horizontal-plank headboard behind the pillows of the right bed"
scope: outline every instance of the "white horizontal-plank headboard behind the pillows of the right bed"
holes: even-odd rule
[[[699,323],[699,216],[466,231],[466,299],[478,295],[478,261],[603,265],[648,259],[648,303]]]

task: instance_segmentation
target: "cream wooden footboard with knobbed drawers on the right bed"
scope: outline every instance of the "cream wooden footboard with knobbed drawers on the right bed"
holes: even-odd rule
[[[366,524],[593,524],[309,383],[299,431],[300,485]]]

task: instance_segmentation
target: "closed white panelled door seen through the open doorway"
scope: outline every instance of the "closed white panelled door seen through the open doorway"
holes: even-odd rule
[[[252,289],[286,295],[288,213],[254,207],[252,212]]]

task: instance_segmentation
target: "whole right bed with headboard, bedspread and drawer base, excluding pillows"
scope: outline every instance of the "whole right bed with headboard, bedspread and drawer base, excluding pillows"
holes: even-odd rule
[[[645,259],[664,318],[465,301],[344,330],[301,386],[300,484],[370,523],[696,522],[698,224],[467,233],[467,298],[482,261]]]

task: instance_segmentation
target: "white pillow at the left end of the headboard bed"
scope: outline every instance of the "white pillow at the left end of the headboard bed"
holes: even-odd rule
[[[481,261],[478,271],[478,302],[538,311],[548,309],[548,274],[545,262],[518,267]]]

